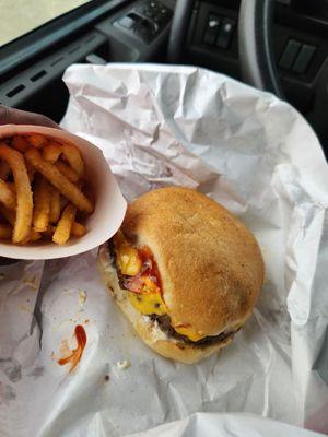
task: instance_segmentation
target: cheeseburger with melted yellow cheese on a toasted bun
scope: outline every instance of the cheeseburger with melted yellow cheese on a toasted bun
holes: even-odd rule
[[[226,346],[263,282],[258,244],[223,206],[171,187],[134,200],[98,253],[103,280],[141,339],[196,363]]]

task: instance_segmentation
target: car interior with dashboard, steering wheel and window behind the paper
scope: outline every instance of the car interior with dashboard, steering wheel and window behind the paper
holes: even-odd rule
[[[0,104],[58,122],[69,98],[61,78],[72,63],[199,66],[292,104],[312,125],[327,156],[327,0],[77,3],[58,16],[45,15],[43,24],[32,24],[22,34],[8,39],[1,35]],[[28,8],[33,15],[32,4]]]

